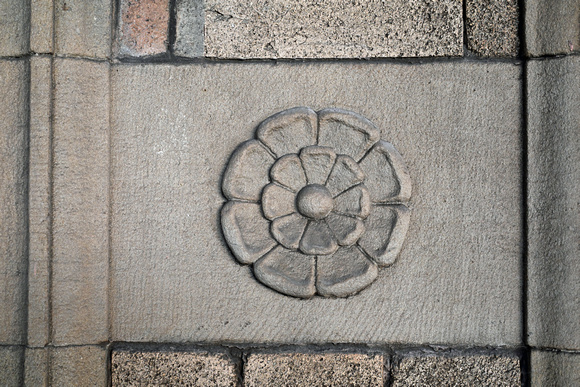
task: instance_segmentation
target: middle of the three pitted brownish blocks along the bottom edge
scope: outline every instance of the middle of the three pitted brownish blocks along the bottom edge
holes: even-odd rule
[[[254,386],[377,386],[384,385],[383,355],[266,354],[248,356],[244,383]]]

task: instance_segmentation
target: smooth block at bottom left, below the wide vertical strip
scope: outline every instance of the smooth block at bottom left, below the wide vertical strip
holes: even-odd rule
[[[107,350],[97,346],[51,350],[50,386],[100,386],[107,383]]]

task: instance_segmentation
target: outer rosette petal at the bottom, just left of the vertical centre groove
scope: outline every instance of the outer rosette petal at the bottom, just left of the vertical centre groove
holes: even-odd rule
[[[254,275],[280,293],[309,298],[316,292],[314,267],[314,257],[278,246],[254,263]]]

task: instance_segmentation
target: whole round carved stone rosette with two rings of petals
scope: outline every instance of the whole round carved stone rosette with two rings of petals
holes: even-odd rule
[[[223,178],[222,229],[236,259],[280,293],[346,297],[391,265],[411,180],[366,118],[294,108],[262,122]]]

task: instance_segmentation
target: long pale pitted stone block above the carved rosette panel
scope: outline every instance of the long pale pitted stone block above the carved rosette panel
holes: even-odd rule
[[[377,58],[462,53],[462,5],[457,0],[205,1],[205,55],[209,57]]]

